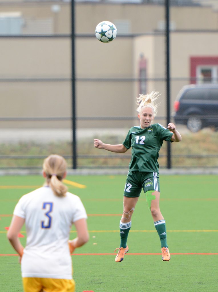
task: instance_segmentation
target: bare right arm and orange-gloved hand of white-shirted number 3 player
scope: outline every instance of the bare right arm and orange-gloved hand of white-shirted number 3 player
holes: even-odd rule
[[[68,241],[70,253],[73,253],[75,248],[83,246],[87,241],[89,241],[86,219],[79,219],[74,222],[74,225],[77,230],[77,237]]]

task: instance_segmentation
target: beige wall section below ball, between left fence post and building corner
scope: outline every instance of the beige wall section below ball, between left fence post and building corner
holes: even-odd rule
[[[78,117],[131,117],[133,82],[133,40],[117,38],[103,44],[95,38],[77,39],[76,72],[78,78],[100,78],[96,81],[77,81]],[[123,81],[118,81],[123,78]],[[102,80],[103,79],[103,80]],[[120,127],[129,121],[79,120],[81,127]]]

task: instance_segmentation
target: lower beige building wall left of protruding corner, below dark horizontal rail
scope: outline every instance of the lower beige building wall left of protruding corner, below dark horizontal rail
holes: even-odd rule
[[[115,121],[81,121],[81,117],[132,116],[132,39],[117,39],[102,44],[97,39],[76,41],[77,78],[103,78],[101,81],[77,81],[78,126],[115,126]],[[70,81],[41,81],[69,78],[70,39],[1,39],[1,78],[40,79],[32,82],[2,82],[0,116],[31,118],[67,118],[71,116]],[[14,50],[16,48],[16,51]],[[117,53],[115,53],[117,52]],[[116,79],[122,77],[124,81]],[[110,81],[112,79],[112,81]],[[127,80],[127,81],[125,81]],[[125,108],[125,111],[123,109]],[[4,121],[3,127],[70,127],[71,120],[39,122]],[[126,121],[121,121],[124,127]]]

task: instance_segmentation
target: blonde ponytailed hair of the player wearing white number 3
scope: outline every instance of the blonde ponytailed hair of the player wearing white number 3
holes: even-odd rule
[[[56,154],[49,155],[43,163],[43,170],[46,173],[48,185],[58,197],[64,197],[68,188],[61,182],[67,170],[66,160]]]

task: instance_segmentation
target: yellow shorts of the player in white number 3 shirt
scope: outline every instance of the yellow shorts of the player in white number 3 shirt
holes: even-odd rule
[[[75,281],[68,279],[23,278],[24,292],[74,292]]]

